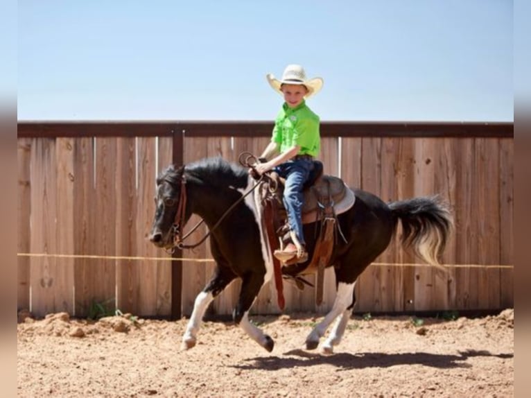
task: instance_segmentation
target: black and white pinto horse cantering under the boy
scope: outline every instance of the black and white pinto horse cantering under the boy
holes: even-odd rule
[[[175,247],[177,234],[181,234],[179,229],[191,214],[198,214],[209,227],[211,253],[216,261],[214,275],[195,299],[182,338],[182,349],[195,345],[207,307],[236,278],[241,278],[242,284],[232,313],[234,322],[256,343],[269,352],[273,349],[272,338],[248,318],[261,287],[273,276],[272,253],[261,228],[261,203],[254,194],[245,195],[255,184],[247,168],[220,157],[202,159],[179,168],[169,166],[157,177],[156,212],[150,241],[159,248],[171,250]],[[186,192],[182,192],[183,189]],[[322,351],[328,354],[333,352],[334,345],[340,343],[351,316],[356,301],[356,279],[388,247],[398,221],[403,227],[403,245],[433,265],[438,264],[437,259],[444,250],[452,227],[449,209],[437,197],[385,204],[372,193],[360,189],[354,189],[354,193],[354,206],[338,215],[347,243],[338,239],[329,264],[336,275],[336,300],[331,311],[306,338],[306,348],[315,349],[336,320],[322,344]],[[225,214],[231,206],[234,208]],[[184,219],[180,225],[175,224],[178,212]],[[224,214],[225,218],[218,223]],[[308,259],[312,258],[315,248],[317,227],[317,223],[304,225]]]

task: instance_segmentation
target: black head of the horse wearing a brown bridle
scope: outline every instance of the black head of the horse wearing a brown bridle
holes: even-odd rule
[[[178,245],[182,228],[190,217],[186,214],[185,184],[184,166],[168,166],[157,177],[155,218],[149,240],[159,248],[170,250]]]

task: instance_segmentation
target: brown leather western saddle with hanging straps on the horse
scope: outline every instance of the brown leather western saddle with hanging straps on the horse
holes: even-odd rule
[[[304,284],[312,285],[299,275],[315,272],[317,272],[316,302],[317,305],[322,303],[324,268],[330,265],[339,228],[336,216],[354,205],[354,192],[340,178],[324,175],[323,169],[322,162],[314,160],[313,170],[303,187],[302,223],[320,223],[313,256],[304,263],[297,263],[295,258],[282,264],[276,257],[272,257],[277,299],[281,309],[284,309],[282,279],[292,279],[297,287],[302,289]],[[280,178],[277,173],[270,173],[269,178],[256,192],[263,208],[263,230],[268,236],[271,253],[277,248],[284,248],[284,244],[291,236],[287,212],[282,201],[284,182],[284,178]]]

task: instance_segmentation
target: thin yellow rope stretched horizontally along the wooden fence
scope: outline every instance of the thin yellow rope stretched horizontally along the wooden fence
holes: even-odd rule
[[[48,254],[48,253],[17,253],[17,257],[54,257],[58,259],[105,259],[105,260],[157,260],[157,261],[193,261],[195,263],[213,263],[214,259],[188,259],[184,257],[130,257],[130,256],[98,256],[91,254]],[[433,267],[429,264],[417,263],[372,263],[379,267]],[[483,265],[483,264],[442,264],[446,268],[514,268],[514,265]]]

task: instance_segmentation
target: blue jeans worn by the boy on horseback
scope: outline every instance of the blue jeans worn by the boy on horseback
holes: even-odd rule
[[[284,207],[286,207],[286,212],[288,213],[288,223],[291,230],[297,234],[297,238],[302,245],[306,244],[302,233],[302,205],[304,201],[302,187],[304,182],[308,180],[312,168],[313,161],[303,158],[288,160],[288,162],[279,164],[273,169],[281,177],[286,178]]]

